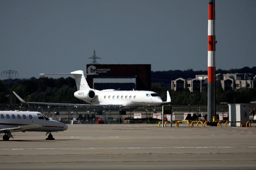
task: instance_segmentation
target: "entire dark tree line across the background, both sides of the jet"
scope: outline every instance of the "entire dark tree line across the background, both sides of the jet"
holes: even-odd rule
[[[177,74],[180,72],[180,74]],[[231,69],[229,71],[218,70],[218,72],[226,73],[249,73],[256,74],[256,67],[244,67],[241,69]],[[160,74],[161,73],[161,74]],[[174,74],[175,73],[175,74]],[[188,74],[189,73],[189,74]],[[193,73],[193,74],[192,74]],[[207,104],[207,91],[204,92],[189,92],[188,88],[182,91],[172,91],[168,81],[175,80],[176,77],[188,78],[197,74],[207,74],[207,71],[158,71],[152,72],[151,79],[158,76],[158,81],[152,80],[151,91],[157,94],[166,101],[166,91],[170,92],[172,103],[193,103]],[[161,76],[160,76],[161,75]],[[172,79],[169,75],[172,75]],[[195,77],[195,76],[194,76]],[[167,79],[170,78],[168,81]],[[0,80],[0,103],[15,104],[20,103],[16,96],[12,93],[15,91],[21,98],[27,102],[49,102],[49,103],[85,103],[74,97],[74,92],[77,91],[75,79],[68,78],[48,78],[40,77],[39,79],[8,79]],[[256,89],[241,88],[238,90],[223,91],[216,90],[216,103],[250,103],[256,101]]]

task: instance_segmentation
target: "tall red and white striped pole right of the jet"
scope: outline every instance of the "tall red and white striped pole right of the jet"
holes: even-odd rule
[[[215,105],[215,0],[208,4],[208,121],[216,114]]]

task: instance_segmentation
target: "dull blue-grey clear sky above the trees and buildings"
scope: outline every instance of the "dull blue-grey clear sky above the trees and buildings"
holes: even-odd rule
[[[217,70],[256,66],[255,7],[215,1]],[[20,79],[86,72],[94,50],[99,64],[207,70],[208,0],[1,0],[0,23],[0,72]]]

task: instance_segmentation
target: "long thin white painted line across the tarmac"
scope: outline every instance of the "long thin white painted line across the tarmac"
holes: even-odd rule
[[[19,148],[0,150],[70,150],[70,149],[211,149],[211,148],[256,148],[256,146],[202,146],[202,147],[89,147],[89,148]]]

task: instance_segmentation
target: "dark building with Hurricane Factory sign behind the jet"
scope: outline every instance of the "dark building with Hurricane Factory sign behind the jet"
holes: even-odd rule
[[[97,90],[151,90],[151,64],[87,64],[87,83]]]

